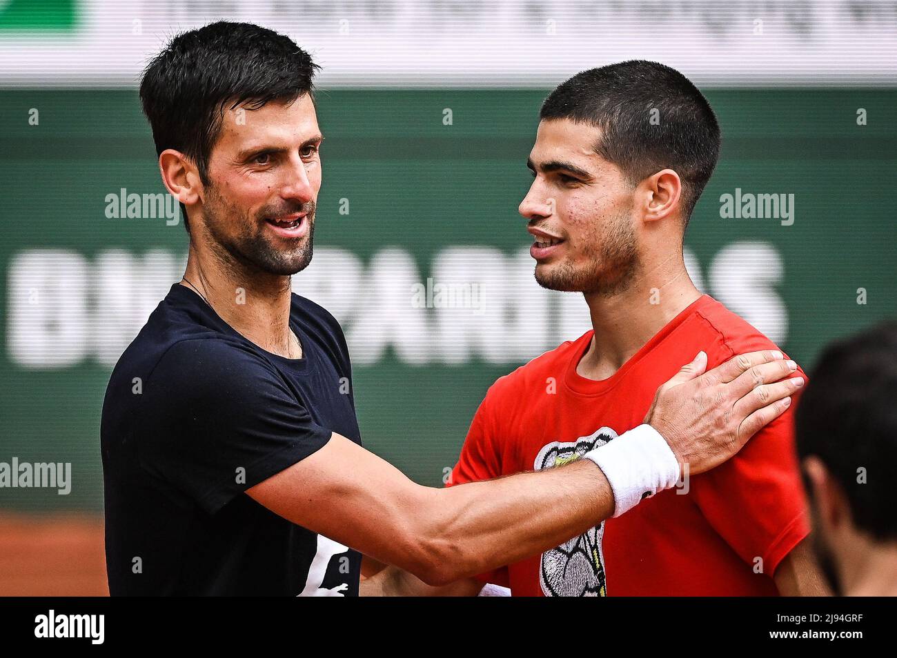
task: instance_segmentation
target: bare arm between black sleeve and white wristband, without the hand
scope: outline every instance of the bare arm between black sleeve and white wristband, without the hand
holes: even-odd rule
[[[338,434],[248,494],[294,524],[429,584],[547,550],[614,512],[610,485],[591,462],[431,489]]]

